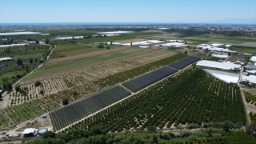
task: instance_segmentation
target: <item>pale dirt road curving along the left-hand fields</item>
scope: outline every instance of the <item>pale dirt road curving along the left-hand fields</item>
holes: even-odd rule
[[[53,50],[50,51],[50,54],[54,51],[56,45],[54,45],[54,48]],[[41,65],[39,65],[36,69],[34,70],[37,70],[38,68],[40,68],[43,64],[45,64],[47,62],[47,60],[50,58],[50,54],[47,56],[46,58],[46,61],[43,62]],[[12,86],[13,86],[13,89],[14,89],[14,86],[18,84],[18,82],[21,82],[22,79],[26,78],[28,75],[32,74],[34,72],[34,70],[32,70],[29,74],[26,74],[24,77],[20,78],[17,82],[15,82]],[[0,102],[0,109],[4,109],[8,106],[8,103],[9,103],[9,97],[8,97],[8,94],[3,93],[2,94],[2,102]]]

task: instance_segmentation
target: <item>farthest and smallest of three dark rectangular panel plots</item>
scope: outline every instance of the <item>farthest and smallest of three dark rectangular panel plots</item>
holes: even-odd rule
[[[173,62],[171,63],[170,67],[174,67],[175,69],[178,70],[182,70],[184,69],[186,66],[189,66],[190,64],[199,61],[201,58],[195,57],[195,56],[190,56],[187,58],[183,58],[182,60],[179,60],[177,62]]]

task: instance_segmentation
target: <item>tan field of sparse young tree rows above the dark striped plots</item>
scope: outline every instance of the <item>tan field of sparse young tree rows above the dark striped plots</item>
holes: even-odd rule
[[[148,54],[150,54],[150,58],[148,58]],[[185,54],[178,54],[173,57],[165,59],[164,57],[172,53],[166,54],[165,51],[162,51],[162,50],[158,50],[154,52],[155,55],[152,55],[152,53],[148,53],[148,54],[142,54],[142,55],[134,56],[131,58],[125,58],[120,61],[108,62],[102,65],[88,66],[86,69],[75,71],[74,73],[70,73],[70,74],[59,75],[58,77],[55,77],[55,78],[52,78],[53,76],[50,76],[49,79],[46,78],[45,80],[41,80],[40,82],[42,82],[42,85],[38,87],[34,86],[34,82],[36,80],[32,81],[33,83],[31,83],[31,81],[27,81],[28,84],[26,84],[26,86],[22,86],[22,88],[28,87],[27,96],[24,96],[21,94],[16,96],[17,93],[13,92],[16,95],[15,97],[11,97],[9,106],[18,105],[18,104],[21,104],[22,102],[28,102],[36,98],[42,98],[49,94],[54,94],[56,102],[61,104],[62,103],[61,98],[63,95],[62,91],[70,90],[70,89],[72,89],[71,91],[74,90],[78,93],[77,98],[74,98],[73,94],[70,94],[69,96],[70,102],[73,102],[78,98],[85,98],[89,94],[93,94],[98,90],[102,90],[108,86],[113,86],[117,82],[125,81],[127,78],[124,77],[123,74],[120,73],[120,71],[122,72],[124,70],[130,70],[130,69],[133,69],[134,66],[140,66],[142,64],[145,64],[146,62],[151,62],[151,65],[143,66],[143,67],[150,68],[150,69],[143,68],[146,71],[150,71],[158,68],[158,66],[162,66],[162,62],[164,61],[168,62],[167,59],[169,59],[169,62],[174,62],[177,59],[185,57]],[[156,61],[155,64],[152,64],[152,61],[155,61],[158,58],[158,54],[162,55],[164,59],[162,59],[162,61],[159,60],[160,62]],[[135,71],[135,70],[131,70],[131,71]],[[146,71],[141,71],[140,73],[138,73],[139,72],[138,70],[136,73],[134,72],[133,73],[140,75],[140,74],[144,74]],[[116,81],[111,76],[110,78],[105,78],[109,74],[113,75],[115,79],[119,77],[121,77],[122,79],[119,79],[118,81]],[[115,75],[115,74],[118,74],[118,75]],[[134,78],[134,76],[136,76],[134,74],[130,75],[132,76],[131,78]],[[20,100],[18,100],[18,98]]]

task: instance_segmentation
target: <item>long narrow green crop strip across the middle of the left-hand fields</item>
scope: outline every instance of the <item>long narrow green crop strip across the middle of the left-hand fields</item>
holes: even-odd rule
[[[138,54],[138,53],[142,53],[142,52],[146,52],[146,51],[150,51],[151,49],[138,49],[132,52],[127,52],[127,53],[118,53],[118,54],[110,54],[108,56],[97,56],[94,58],[84,58],[84,59],[78,59],[76,62],[70,62],[70,63],[64,63],[64,66],[58,66],[58,67],[52,67],[52,68],[47,68],[47,67],[42,67],[39,68],[39,70],[36,70],[34,73],[30,74],[27,78],[33,78],[39,75],[43,75],[43,74],[49,74],[49,73],[53,73],[53,72],[57,72],[59,70],[67,70],[67,69],[71,69],[74,67],[78,67],[78,66],[86,66],[89,64],[93,64],[96,62],[103,62],[106,60],[110,60],[110,59],[114,59],[114,58],[121,58],[121,57],[125,57],[128,55],[132,55],[132,54]],[[61,65],[61,64],[60,64]]]

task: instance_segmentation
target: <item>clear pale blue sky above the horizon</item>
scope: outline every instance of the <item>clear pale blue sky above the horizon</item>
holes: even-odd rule
[[[255,24],[256,0],[0,0],[0,23]]]

